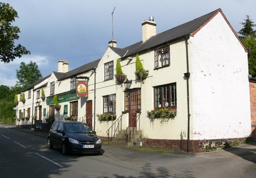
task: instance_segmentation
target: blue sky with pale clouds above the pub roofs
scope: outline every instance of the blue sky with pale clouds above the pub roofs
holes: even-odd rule
[[[0,85],[14,86],[16,69],[24,61],[36,62],[43,75],[58,70],[58,60],[69,70],[100,59],[112,39],[123,48],[142,40],[143,20],[154,16],[156,33],[208,14],[218,8],[238,32],[246,15],[256,24],[255,0],[1,0],[18,12],[13,25],[20,28],[17,44],[31,55],[0,62]]]

